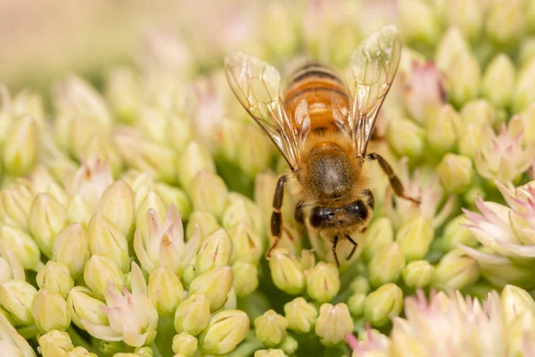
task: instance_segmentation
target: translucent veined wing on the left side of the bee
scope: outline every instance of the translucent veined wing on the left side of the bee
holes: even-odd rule
[[[268,63],[242,53],[226,57],[225,72],[240,103],[268,133],[294,170],[299,164],[300,145],[308,124],[294,123],[288,118],[280,92],[279,72]]]

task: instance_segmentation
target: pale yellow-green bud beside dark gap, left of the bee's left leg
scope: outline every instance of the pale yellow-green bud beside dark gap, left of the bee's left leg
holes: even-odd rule
[[[211,171],[200,170],[193,177],[189,189],[193,210],[221,217],[228,197],[228,188],[223,179]]]

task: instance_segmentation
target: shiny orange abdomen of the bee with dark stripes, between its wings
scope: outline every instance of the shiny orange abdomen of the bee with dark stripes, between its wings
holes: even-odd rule
[[[295,71],[284,95],[288,116],[308,112],[312,131],[342,129],[349,111],[349,96],[342,80],[325,66],[310,63]]]

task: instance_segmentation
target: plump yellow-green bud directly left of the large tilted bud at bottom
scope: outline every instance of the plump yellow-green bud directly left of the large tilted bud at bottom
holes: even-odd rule
[[[192,294],[180,303],[175,312],[175,330],[193,336],[199,335],[210,320],[210,300],[200,294]]]

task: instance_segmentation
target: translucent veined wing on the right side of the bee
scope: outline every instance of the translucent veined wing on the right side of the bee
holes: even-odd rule
[[[351,55],[349,124],[359,156],[366,154],[377,113],[398,71],[400,54],[398,30],[386,26],[368,37]]]

